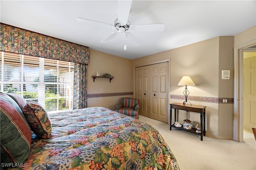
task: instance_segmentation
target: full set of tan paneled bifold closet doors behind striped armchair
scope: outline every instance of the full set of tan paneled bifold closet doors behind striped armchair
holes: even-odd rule
[[[135,68],[135,96],[139,115],[168,122],[168,62]]]

